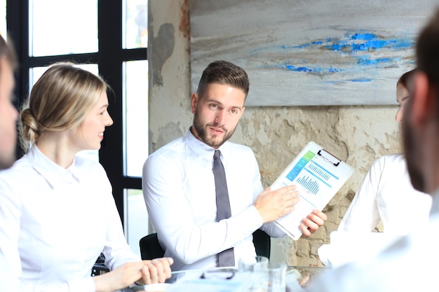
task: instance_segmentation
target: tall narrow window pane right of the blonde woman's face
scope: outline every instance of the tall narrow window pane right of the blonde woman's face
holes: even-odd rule
[[[148,61],[125,63],[125,175],[142,176],[148,157]]]

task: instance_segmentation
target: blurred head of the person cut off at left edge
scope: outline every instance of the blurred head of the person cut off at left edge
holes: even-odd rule
[[[15,161],[18,112],[12,104],[14,67],[15,54],[0,36],[0,169],[10,167]]]

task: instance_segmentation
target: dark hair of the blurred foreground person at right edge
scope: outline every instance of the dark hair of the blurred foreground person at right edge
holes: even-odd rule
[[[416,46],[417,67],[439,88],[439,9],[421,30]]]

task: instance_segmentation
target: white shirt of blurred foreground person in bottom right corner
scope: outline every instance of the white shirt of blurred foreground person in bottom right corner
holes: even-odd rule
[[[398,239],[363,263],[328,270],[308,292],[439,291],[439,191],[433,196],[430,221]]]

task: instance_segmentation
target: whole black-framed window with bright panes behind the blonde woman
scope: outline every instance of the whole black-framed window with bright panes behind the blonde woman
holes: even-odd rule
[[[100,74],[114,90],[114,97],[109,95],[114,125],[107,128],[98,156],[86,154],[99,159],[107,170],[128,243],[140,254],[139,239],[149,233],[141,191],[149,148],[147,0],[3,0],[1,19],[5,9],[3,27],[20,64],[15,88],[18,107],[56,61],[81,64]],[[98,211],[94,220],[99,220]]]

